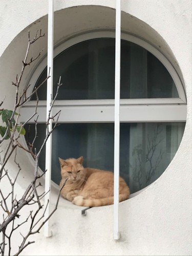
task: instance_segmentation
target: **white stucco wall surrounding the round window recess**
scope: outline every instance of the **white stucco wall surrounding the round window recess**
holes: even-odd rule
[[[37,29],[47,30],[47,2],[1,0],[0,101],[7,95],[5,108],[10,109],[13,105],[11,82],[20,72],[28,29],[32,34]],[[115,11],[112,8],[115,8],[115,1],[111,0],[55,0],[55,45],[79,32],[114,28]],[[36,243],[27,247],[23,255],[192,254],[191,1],[124,0],[122,11],[122,30],[158,47],[184,81],[187,122],[179,150],[156,182],[139,195],[120,203],[119,241],[113,240],[113,206],[89,209],[87,216],[82,217],[80,207],[61,199],[51,219],[53,236],[45,238],[43,232],[35,235]],[[46,49],[46,39],[32,49],[34,55],[41,48]],[[34,68],[31,65],[26,71],[24,82],[29,80]],[[23,168],[18,180],[18,193],[22,193],[33,166],[24,153],[17,155]],[[14,175],[11,161],[9,169]],[[55,198],[56,189],[53,188],[52,205]]]

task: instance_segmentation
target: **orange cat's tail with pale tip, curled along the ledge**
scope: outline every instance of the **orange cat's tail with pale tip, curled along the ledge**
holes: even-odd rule
[[[119,195],[119,202],[124,201],[129,198],[129,194]],[[100,199],[84,199],[82,196],[77,196],[74,198],[73,204],[78,206],[86,206],[86,207],[96,207],[103,205],[110,205],[114,203],[114,197],[100,198]]]

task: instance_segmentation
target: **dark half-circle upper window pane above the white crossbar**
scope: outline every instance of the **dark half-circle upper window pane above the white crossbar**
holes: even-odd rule
[[[54,58],[53,95],[61,76],[57,99],[114,99],[115,39],[97,38],[80,42]],[[35,87],[47,77],[41,73]],[[162,63],[144,48],[121,40],[122,99],[178,97],[175,83]],[[46,86],[38,92],[46,100]],[[32,97],[35,100],[36,96]]]

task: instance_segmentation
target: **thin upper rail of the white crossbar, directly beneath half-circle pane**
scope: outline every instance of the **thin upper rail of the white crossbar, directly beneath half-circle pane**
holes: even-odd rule
[[[39,100],[38,106],[46,106],[46,100]],[[180,98],[120,99],[120,105],[186,104]],[[35,106],[36,100],[25,103],[24,108]],[[114,99],[56,100],[54,106],[115,105]]]

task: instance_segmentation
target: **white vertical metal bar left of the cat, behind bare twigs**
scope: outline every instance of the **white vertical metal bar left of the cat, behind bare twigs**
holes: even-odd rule
[[[47,118],[50,109],[50,102],[53,95],[53,26],[54,26],[54,0],[49,0],[49,10],[48,10],[48,56],[47,56],[47,74],[51,77],[47,80]],[[50,69],[50,73],[49,73]],[[49,130],[52,129],[52,119],[49,121]],[[46,143],[46,176],[45,176],[45,192],[47,193],[51,189],[51,149],[52,149],[52,136],[49,137]],[[50,190],[51,192],[51,190]],[[48,204],[47,210],[45,212],[45,219],[48,218],[50,214],[50,193],[45,196],[45,207]],[[52,235],[49,220],[44,225],[44,235],[45,237],[50,237]]]

